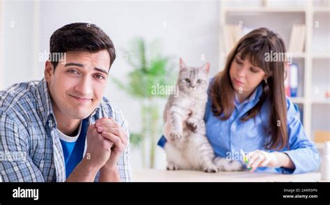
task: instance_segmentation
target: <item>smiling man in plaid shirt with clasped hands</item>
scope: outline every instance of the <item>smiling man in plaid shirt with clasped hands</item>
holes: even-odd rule
[[[52,34],[49,49],[40,82],[0,92],[2,180],[131,181],[125,119],[103,97],[116,59],[111,39],[73,23]]]

